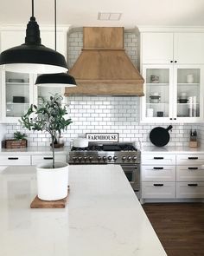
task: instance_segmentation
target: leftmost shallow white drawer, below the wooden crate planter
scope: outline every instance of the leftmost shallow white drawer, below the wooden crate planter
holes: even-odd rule
[[[30,155],[10,154],[0,156],[1,166],[29,166],[30,163]]]

